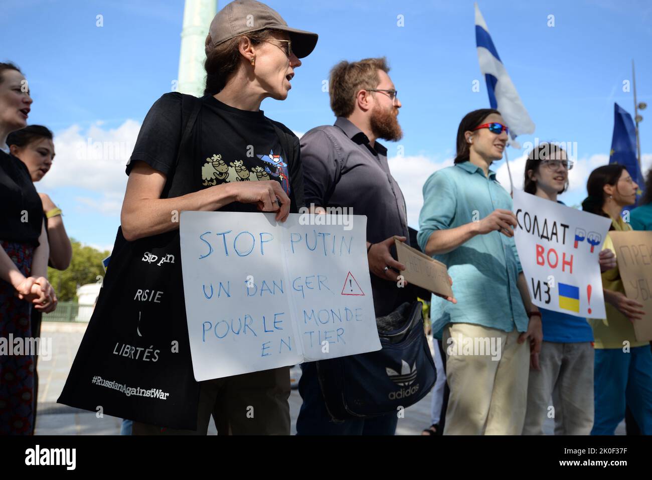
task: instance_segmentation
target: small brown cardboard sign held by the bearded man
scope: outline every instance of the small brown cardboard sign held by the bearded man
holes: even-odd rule
[[[394,237],[394,245],[396,245],[398,262],[407,267],[406,270],[401,271],[401,275],[409,283],[438,295],[453,296],[446,265],[397,240],[396,237]]]

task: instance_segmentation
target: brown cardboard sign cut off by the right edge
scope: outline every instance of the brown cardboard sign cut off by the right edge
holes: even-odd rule
[[[609,232],[627,298],[643,304],[645,316],[634,320],[639,342],[652,340],[652,232]]]

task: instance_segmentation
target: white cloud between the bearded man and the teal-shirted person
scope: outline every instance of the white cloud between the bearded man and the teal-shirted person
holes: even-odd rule
[[[408,225],[419,230],[419,212],[423,206],[423,184],[436,170],[452,166],[452,158],[437,161],[425,155],[417,155],[391,157],[387,161],[392,176],[398,182],[406,199]]]

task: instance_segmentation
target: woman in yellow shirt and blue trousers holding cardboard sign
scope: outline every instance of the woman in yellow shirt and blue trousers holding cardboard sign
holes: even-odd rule
[[[611,218],[609,230],[629,231],[623,222],[623,207],[636,202],[638,185],[624,166],[610,164],[589,175],[589,196],[582,209]],[[602,247],[614,250],[607,235]],[[606,320],[591,319],[595,337],[595,421],[592,435],[613,435],[629,406],[642,434],[652,434],[652,352],[638,342],[632,322],[642,319],[643,305],[625,296],[618,267],[602,273]]]

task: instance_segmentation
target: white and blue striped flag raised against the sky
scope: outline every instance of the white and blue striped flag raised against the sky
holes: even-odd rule
[[[480,71],[486,80],[491,108],[499,110],[505,119],[512,140],[520,134],[534,133],[534,123],[498,56],[477,3],[475,4],[475,43],[478,47]]]

